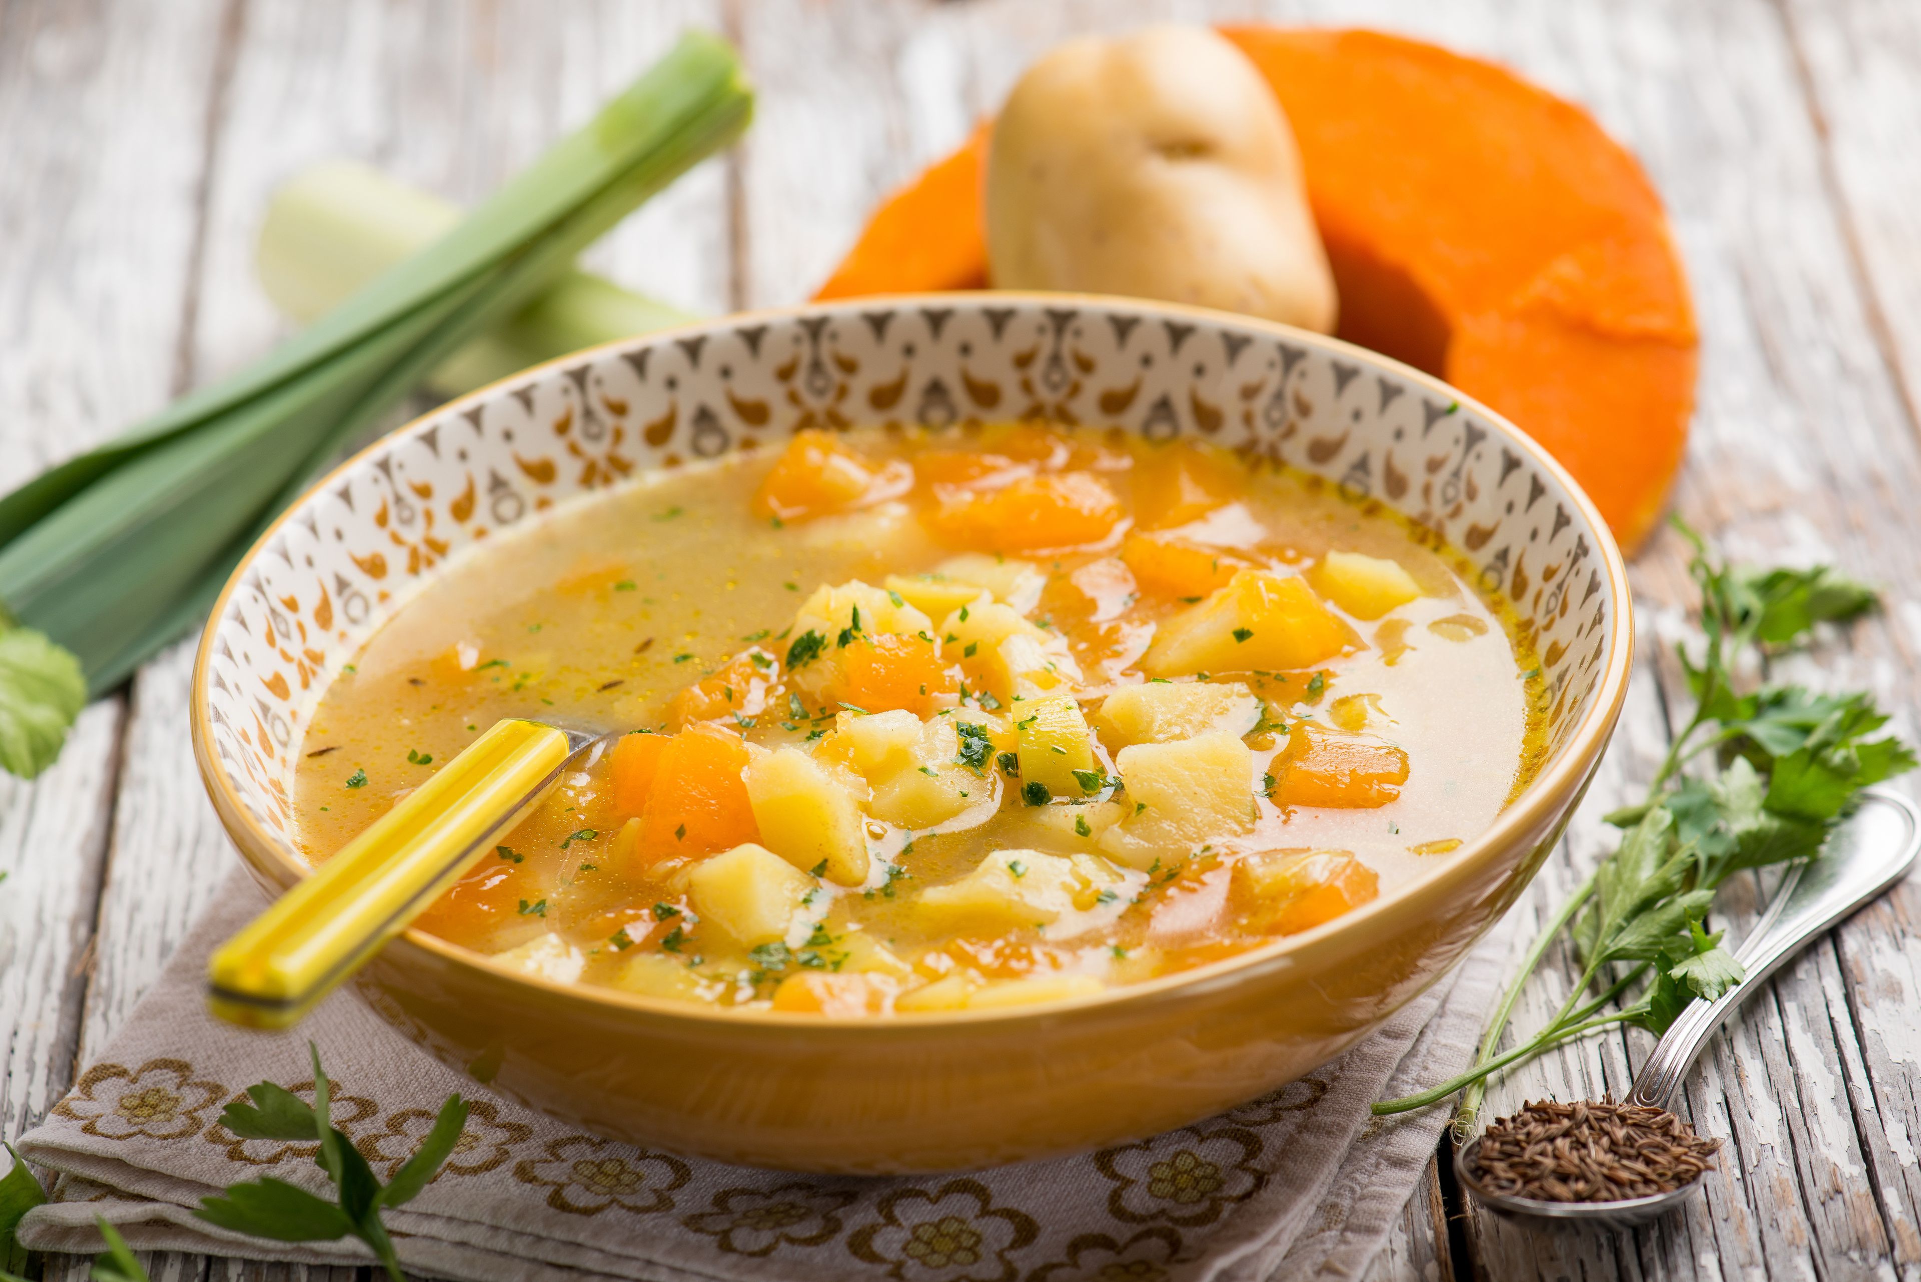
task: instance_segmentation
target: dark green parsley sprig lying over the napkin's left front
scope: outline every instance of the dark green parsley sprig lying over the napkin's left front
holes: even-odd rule
[[[219,1228],[275,1242],[336,1242],[353,1236],[373,1249],[388,1278],[401,1282],[405,1274],[380,1222],[380,1211],[413,1201],[434,1178],[467,1128],[467,1101],[448,1096],[421,1146],[390,1182],[380,1184],[353,1142],[328,1119],[332,1084],[321,1069],[321,1053],[311,1044],[307,1049],[313,1055],[313,1107],[282,1086],[259,1082],[246,1092],[254,1103],[229,1103],[221,1124],[244,1140],[319,1142],[313,1161],[334,1182],[336,1201],[265,1176],[229,1184],[223,1196],[204,1197],[194,1215]]]

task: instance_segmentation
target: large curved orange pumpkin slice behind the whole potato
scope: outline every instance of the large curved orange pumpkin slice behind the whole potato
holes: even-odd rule
[[[1633,552],[1681,467],[1698,338],[1646,173],[1573,104],[1375,31],[1226,27],[1295,127],[1339,336],[1514,419]],[[874,211],[816,298],[987,284],[991,125]]]

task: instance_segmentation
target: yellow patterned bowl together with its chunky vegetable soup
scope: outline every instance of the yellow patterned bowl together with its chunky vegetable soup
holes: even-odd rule
[[[232,575],[194,750],[269,892],[507,717],[622,730],[355,980],[597,1134],[1068,1153],[1327,1063],[1514,901],[1631,661],[1539,446],[1112,298],[730,317],[448,404]]]

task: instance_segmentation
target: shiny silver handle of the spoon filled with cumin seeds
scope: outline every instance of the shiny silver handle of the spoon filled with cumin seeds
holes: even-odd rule
[[[1635,1074],[1627,1103],[1667,1107],[1721,1021],[1781,963],[1906,876],[1917,850],[1921,817],[1913,801],[1883,788],[1863,792],[1821,853],[1781,875],[1767,911],[1735,953],[1746,978],[1717,1001],[1694,1001],[1681,1011]]]

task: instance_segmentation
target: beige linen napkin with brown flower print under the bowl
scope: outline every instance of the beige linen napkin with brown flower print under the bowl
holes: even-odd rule
[[[440,1176],[386,1222],[417,1274],[473,1282],[588,1278],[788,1282],[1258,1282],[1358,1276],[1447,1121],[1370,1119],[1368,1103],[1466,1067],[1495,999],[1506,925],[1335,1063],[1220,1117],[1139,1144],[997,1171],[832,1178],[728,1167],[582,1134],[442,1067],[348,992],[294,1034],[215,1023],[213,946],[265,905],[234,873],[154,990],[19,1151],[58,1174],[21,1224],[42,1251],[100,1247],[94,1217],[136,1249],[363,1263],[357,1242],[282,1244],[192,1217],[207,1194],[273,1174],[328,1196],[313,1146],[219,1124],[259,1080],[311,1099],[307,1040],[334,1080],[334,1122],[380,1178],[440,1101],[473,1113]],[[1510,919],[1512,921],[1512,919]]]

